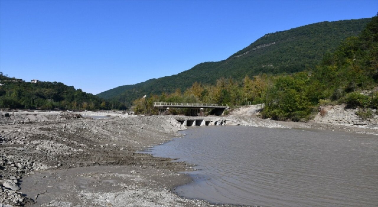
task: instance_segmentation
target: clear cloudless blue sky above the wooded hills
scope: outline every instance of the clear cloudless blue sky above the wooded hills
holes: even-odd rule
[[[0,71],[97,94],[221,61],[266,33],[377,12],[378,0],[0,0]]]

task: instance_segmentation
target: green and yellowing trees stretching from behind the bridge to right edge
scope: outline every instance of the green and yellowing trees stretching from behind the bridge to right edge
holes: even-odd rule
[[[369,117],[378,108],[378,17],[359,36],[348,37],[312,69],[289,75],[257,75],[242,81],[220,78],[215,84],[195,82],[181,92],[150,95],[134,101],[137,113],[158,113],[153,102],[218,103],[230,106],[264,103],[263,118],[307,120],[319,106],[346,103]],[[365,92],[365,93],[363,93]],[[170,113],[185,113],[183,110]]]

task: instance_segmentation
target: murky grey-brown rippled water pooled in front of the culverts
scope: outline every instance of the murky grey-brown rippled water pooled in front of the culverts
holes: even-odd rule
[[[151,149],[194,163],[187,198],[259,206],[378,206],[378,136],[249,126],[191,127]]]

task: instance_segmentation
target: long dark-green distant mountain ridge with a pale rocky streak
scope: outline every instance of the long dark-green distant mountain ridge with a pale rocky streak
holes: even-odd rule
[[[287,31],[266,34],[248,47],[218,62],[204,62],[177,75],[119,86],[98,96],[131,105],[147,94],[161,94],[190,87],[194,82],[213,84],[220,77],[241,80],[246,75],[282,74],[318,65],[325,53],[332,53],[347,37],[357,36],[367,19],[320,22]]]

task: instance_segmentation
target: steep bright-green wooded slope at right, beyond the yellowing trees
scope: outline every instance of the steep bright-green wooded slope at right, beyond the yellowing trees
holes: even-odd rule
[[[334,53],[326,54],[313,71],[278,76],[266,91],[265,117],[297,121],[317,112],[317,106],[333,103],[346,103],[372,116],[364,109],[378,108],[378,16],[359,36],[345,39]]]

